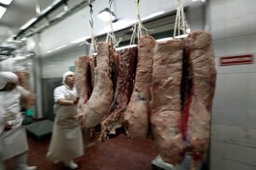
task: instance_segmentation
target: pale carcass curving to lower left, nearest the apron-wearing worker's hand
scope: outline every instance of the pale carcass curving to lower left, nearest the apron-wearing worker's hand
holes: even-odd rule
[[[96,127],[102,117],[108,114],[113,100],[113,82],[111,80],[110,60],[113,45],[99,42],[97,46],[95,82],[90,99],[78,112],[78,121],[85,127]]]

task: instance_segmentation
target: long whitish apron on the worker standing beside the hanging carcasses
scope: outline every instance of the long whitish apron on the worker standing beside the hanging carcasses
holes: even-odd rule
[[[65,99],[76,99],[76,94],[66,94]],[[83,156],[82,130],[75,116],[76,105],[55,107],[55,123],[47,157],[51,161],[70,161]]]

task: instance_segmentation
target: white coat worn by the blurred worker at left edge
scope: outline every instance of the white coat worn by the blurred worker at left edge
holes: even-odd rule
[[[22,127],[23,116],[20,113],[20,97],[27,96],[29,92],[20,86],[11,91],[0,92],[0,148],[2,158],[7,160],[10,157],[20,155],[28,150],[25,128]],[[12,124],[9,131],[3,131],[6,122]]]

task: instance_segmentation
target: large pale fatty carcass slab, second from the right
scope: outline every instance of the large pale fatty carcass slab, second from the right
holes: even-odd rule
[[[172,165],[181,163],[185,152],[180,132],[182,59],[182,40],[157,42],[150,101],[151,131],[161,158]]]

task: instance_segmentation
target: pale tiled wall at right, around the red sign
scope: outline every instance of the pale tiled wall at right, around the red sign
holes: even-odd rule
[[[217,64],[211,170],[256,169],[256,64],[219,66],[222,56],[256,56],[256,1],[210,0]]]

